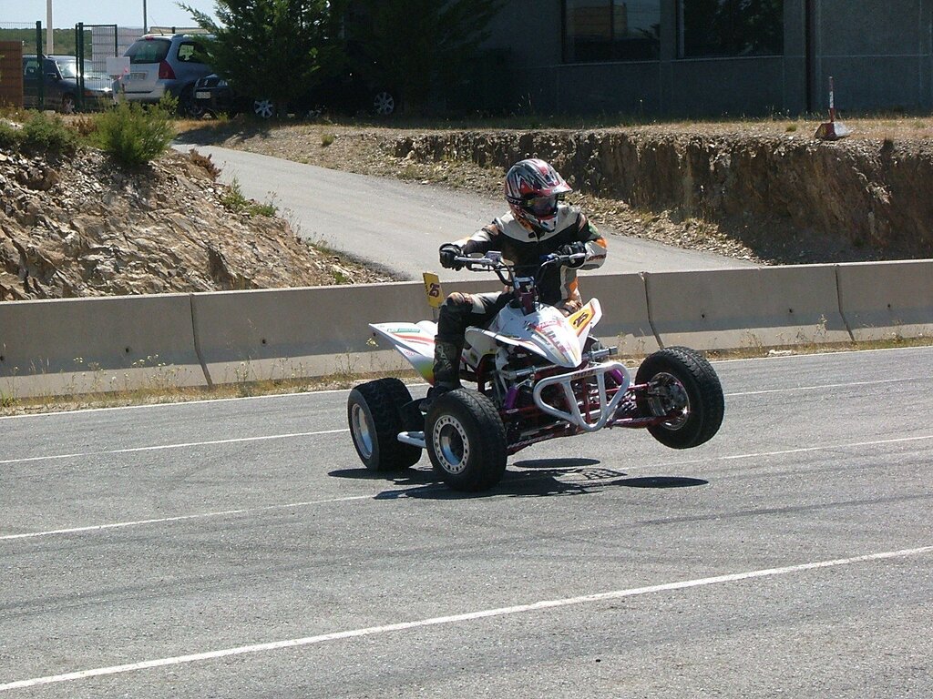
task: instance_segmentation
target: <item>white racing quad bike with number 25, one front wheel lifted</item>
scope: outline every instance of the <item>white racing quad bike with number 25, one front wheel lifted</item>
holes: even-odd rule
[[[513,295],[488,327],[466,330],[460,377],[475,382],[476,389],[442,393],[425,411],[425,400],[412,400],[397,378],[356,386],[347,419],[366,467],[406,469],[426,448],[450,487],[479,491],[499,482],[509,455],[554,437],[643,427],[675,449],[713,437],[724,399],[702,354],[685,347],[661,349],[644,359],[633,380],[624,364],[609,360],[616,348],[605,348],[590,335],[603,315],[597,299],[570,316],[540,302],[541,271],[580,257],[548,255],[536,278],[515,276],[499,253],[457,257],[468,269],[493,270]],[[370,327],[433,383],[436,323]]]

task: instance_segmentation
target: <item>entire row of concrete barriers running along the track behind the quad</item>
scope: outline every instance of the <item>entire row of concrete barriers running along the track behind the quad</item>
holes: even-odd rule
[[[447,282],[443,293],[501,289]],[[626,354],[933,335],[933,261],[583,274]],[[843,319],[844,315],[844,319]],[[370,322],[430,319],[420,282],[0,303],[13,397],[379,373],[409,364]],[[850,332],[851,331],[851,332]]]

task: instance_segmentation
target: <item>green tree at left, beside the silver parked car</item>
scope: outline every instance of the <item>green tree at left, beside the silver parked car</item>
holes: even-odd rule
[[[316,85],[336,51],[327,0],[217,0],[218,22],[181,3],[202,29],[209,62],[230,85],[276,104]]]

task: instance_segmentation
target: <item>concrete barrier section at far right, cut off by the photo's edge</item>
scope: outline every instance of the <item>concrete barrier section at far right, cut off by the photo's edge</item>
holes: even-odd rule
[[[933,336],[933,260],[840,265],[838,277],[856,340]]]

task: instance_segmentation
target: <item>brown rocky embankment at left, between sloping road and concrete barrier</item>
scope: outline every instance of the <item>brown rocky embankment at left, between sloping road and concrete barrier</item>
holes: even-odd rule
[[[283,218],[231,211],[234,195],[195,154],[126,171],[91,148],[0,151],[0,301],[386,279],[309,246]]]

